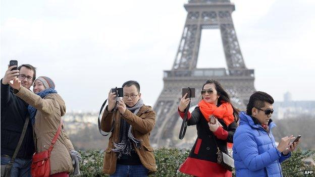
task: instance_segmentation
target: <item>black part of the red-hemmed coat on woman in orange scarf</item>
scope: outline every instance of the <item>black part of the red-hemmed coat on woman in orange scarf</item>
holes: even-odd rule
[[[209,129],[209,126],[207,124],[207,121],[204,119],[204,116],[202,115],[199,107],[196,107],[192,113],[191,117],[188,120],[188,126],[196,125],[197,128],[197,139],[195,141],[195,144],[193,145],[189,157],[197,158],[201,160],[207,160],[211,162],[217,162],[217,146],[214,141],[214,138],[217,141],[217,144],[219,146],[219,149],[222,152],[225,152],[228,154],[227,151],[227,143],[233,143],[233,135],[235,133],[235,130],[237,128],[237,124],[234,121],[227,127],[225,122],[222,119],[218,119],[218,121],[223,126],[223,129],[228,131],[228,137],[226,140],[218,139],[214,133]],[[197,149],[196,149],[197,147]]]

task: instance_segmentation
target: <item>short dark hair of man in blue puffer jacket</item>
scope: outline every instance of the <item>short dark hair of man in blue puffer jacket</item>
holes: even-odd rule
[[[251,109],[253,107],[256,108],[262,108],[265,107],[265,102],[268,102],[270,104],[273,104],[274,98],[272,96],[270,96],[268,93],[265,92],[261,92],[261,91],[256,91],[254,92],[250,97],[249,97],[249,101],[246,107],[246,113],[247,115],[251,115]]]

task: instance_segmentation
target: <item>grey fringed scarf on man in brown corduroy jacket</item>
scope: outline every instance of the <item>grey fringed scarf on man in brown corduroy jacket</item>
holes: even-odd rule
[[[139,101],[132,107],[126,108],[130,110],[132,113],[137,114],[140,108],[143,106],[143,101],[140,98]],[[117,153],[117,158],[120,159],[122,155],[130,155],[131,151],[134,150],[132,147],[132,142],[134,142],[135,147],[141,148],[141,139],[136,139],[131,133],[132,126],[125,121],[122,117],[120,118],[120,131],[119,131],[119,143],[114,143],[115,148],[112,149]]]

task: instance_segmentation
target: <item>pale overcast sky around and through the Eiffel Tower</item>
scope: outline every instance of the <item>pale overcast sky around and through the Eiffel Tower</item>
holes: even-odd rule
[[[255,88],[315,100],[315,1],[234,0],[232,17]],[[137,80],[147,105],[172,68],[184,0],[1,1],[1,77],[10,60],[37,67],[68,111],[98,110],[110,88]],[[198,68],[226,67],[219,30],[203,30]]]

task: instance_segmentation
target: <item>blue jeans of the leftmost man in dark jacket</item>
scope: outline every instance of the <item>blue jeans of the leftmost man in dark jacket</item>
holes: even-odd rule
[[[6,165],[11,160],[7,155],[1,155],[1,165]],[[11,168],[11,177],[29,177],[31,176],[32,159],[15,158]]]

